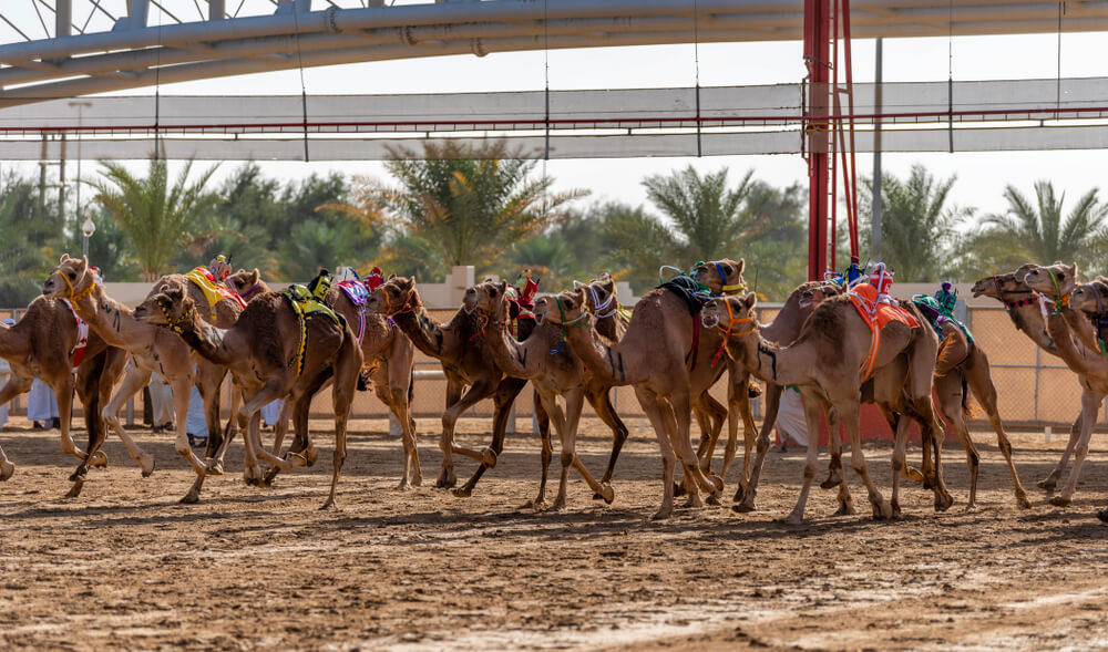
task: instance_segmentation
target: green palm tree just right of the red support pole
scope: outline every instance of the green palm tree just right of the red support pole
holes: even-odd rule
[[[897,280],[935,281],[948,271],[955,227],[973,215],[971,208],[948,205],[955,180],[956,176],[936,179],[922,165],[913,165],[907,179],[882,175],[884,210],[878,255]],[[866,179],[859,210],[865,221],[872,215],[872,197],[873,180]]]

